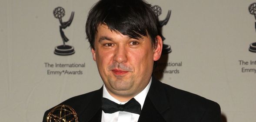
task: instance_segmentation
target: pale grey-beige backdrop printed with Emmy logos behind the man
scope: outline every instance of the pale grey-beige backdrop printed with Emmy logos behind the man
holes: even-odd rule
[[[103,85],[85,39],[87,13],[96,1],[0,0],[2,122],[41,122],[47,109]],[[171,10],[156,76],[218,102],[223,122],[256,122],[256,53],[249,51],[256,20],[248,10],[256,0],[148,2],[160,20]],[[57,7],[65,10],[55,11],[59,18],[53,15]],[[73,21],[65,25],[72,11]],[[60,49],[59,19],[65,44],[74,48],[69,53]]]

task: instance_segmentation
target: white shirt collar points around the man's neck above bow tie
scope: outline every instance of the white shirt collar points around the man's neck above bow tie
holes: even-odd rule
[[[142,109],[142,107],[144,105],[144,101],[146,99],[147,92],[150,89],[151,82],[152,82],[152,77],[150,78],[150,82],[145,87],[145,89],[143,89],[138,95],[136,95],[134,97],[134,99],[136,99],[136,101],[138,101],[140,103],[141,109]],[[113,96],[111,96],[110,93],[106,90],[105,84],[103,84],[103,97],[107,98],[107,99],[110,99],[111,101],[116,102],[117,104],[125,104],[126,102],[128,102],[128,101],[120,102],[119,100],[117,100]]]

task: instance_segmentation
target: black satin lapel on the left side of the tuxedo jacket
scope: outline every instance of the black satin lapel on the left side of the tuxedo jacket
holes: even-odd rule
[[[84,111],[78,115],[79,122],[101,122],[101,100],[103,94],[103,87],[95,92],[90,103],[86,105]],[[81,103],[83,104],[83,103]]]

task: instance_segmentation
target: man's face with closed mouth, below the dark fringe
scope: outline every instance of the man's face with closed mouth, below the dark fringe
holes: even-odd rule
[[[111,96],[120,101],[131,99],[149,83],[153,62],[162,51],[162,40],[154,48],[148,36],[139,40],[111,31],[100,24],[97,28],[95,49],[92,49],[99,73]]]

